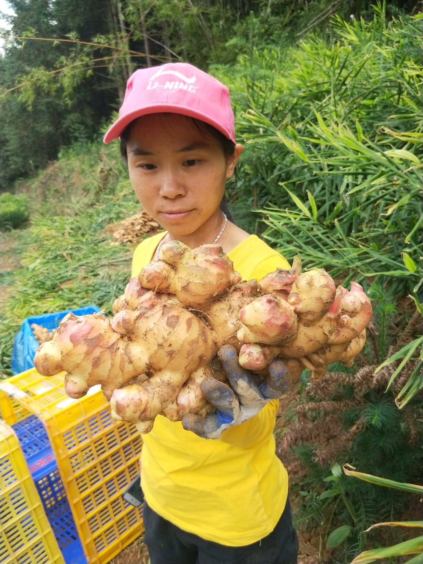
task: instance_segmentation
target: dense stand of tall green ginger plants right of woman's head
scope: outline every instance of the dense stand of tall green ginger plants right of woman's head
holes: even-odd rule
[[[421,21],[380,6],[372,23],[334,20],[330,41],[212,69],[248,148],[232,200],[268,204],[265,236],[288,259],[345,284],[390,277],[397,296],[422,279]]]

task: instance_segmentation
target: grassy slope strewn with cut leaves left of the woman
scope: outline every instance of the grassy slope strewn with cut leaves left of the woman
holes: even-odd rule
[[[106,227],[139,210],[115,143],[62,151],[27,191],[32,226],[19,241],[21,268],[5,279],[4,374],[10,374],[13,340],[24,318],[91,304],[111,314],[130,276],[132,252],[111,245]]]

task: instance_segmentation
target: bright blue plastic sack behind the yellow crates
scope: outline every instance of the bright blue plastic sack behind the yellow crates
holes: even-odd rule
[[[13,343],[12,372],[14,374],[20,374],[34,367],[33,358],[38,348],[38,342],[32,332],[31,324],[37,323],[51,331],[51,329],[59,327],[60,321],[69,311],[72,311],[75,315],[87,315],[100,310],[97,306],[86,306],[76,310],[58,311],[54,314],[34,315],[32,318],[25,319]]]

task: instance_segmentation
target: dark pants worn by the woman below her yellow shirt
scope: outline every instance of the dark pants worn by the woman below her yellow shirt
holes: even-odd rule
[[[226,547],[183,531],[145,501],[143,513],[151,564],[297,564],[298,539],[289,500],[270,535],[245,547]]]

